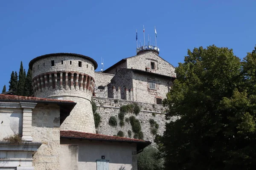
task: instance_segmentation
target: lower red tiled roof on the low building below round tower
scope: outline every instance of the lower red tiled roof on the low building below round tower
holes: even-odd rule
[[[95,134],[95,133],[84,133],[84,132],[77,132],[77,131],[60,131],[61,137],[70,137],[70,138],[81,138],[81,139],[95,139],[95,140],[109,140],[109,141],[122,141],[122,142],[143,142],[143,143],[150,143],[148,141],[143,141],[140,139],[131,139],[131,138],[124,138],[118,136],[107,136],[102,134]]]

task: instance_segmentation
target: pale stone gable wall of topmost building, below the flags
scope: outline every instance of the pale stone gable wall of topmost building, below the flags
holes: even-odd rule
[[[155,69],[151,69],[151,62],[155,63]],[[175,67],[151,51],[127,58],[127,68],[143,71],[148,68],[148,71],[153,73],[176,77]]]

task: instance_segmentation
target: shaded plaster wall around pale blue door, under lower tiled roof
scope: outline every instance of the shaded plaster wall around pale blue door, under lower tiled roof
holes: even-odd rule
[[[135,165],[133,168],[135,162],[132,159],[136,144],[65,138],[61,138],[61,144],[79,146],[78,170],[96,170],[96,160],[101,159],[101,156],[109,160],[109,170],[137,170]]]

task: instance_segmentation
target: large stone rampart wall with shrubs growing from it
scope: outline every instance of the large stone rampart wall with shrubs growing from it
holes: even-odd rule
[[[99,127],[96,129],[99,134],[105,135],[116,135],[119,130],[122,130],[125,134],[125,137],[128,137],[128,130],[131,130],[130,123],[125,122],[123,127],[119,125],[118,113],[120,110],[120,106],[132,104],[134,102],[128,100],[117,100],[117,99],[109,99],[109,98],[100,98],[100,97],[92,97],[92,100],[97,105],[97,113],[101,116],[101,122]],[[136,102],[140,106],[140,113],[136,116],[136,119],[140,120],[141,129],[144,134],[144,140],[154,142],[154,135],[150,130],[149,119],[154,119],[158,125],[157,134],[162,135],[165,130],[166,119],[164,114],[163,105],[154,105],[149,103]],[[155,113],[153,116],[152,113]],[[108,125],[109,118],[111,116],[115,116],[117,119],[117,126],[111,127]],[[129,118],[130,116],[135,116],[132,113],[126,113],[125,118]],[[176,118],[172,118],[172,121],[175,121]],[[131,130],[132,132],[132,130]],[[134,133],[132,132],[131,138],[133,138]]]

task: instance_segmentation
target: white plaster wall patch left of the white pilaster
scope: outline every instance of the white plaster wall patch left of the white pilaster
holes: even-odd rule
[[[0,140],[14,134],[22,134],[22,108],[1,108],[0,110]]]

